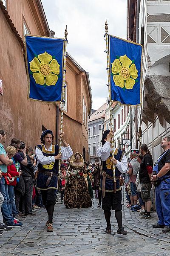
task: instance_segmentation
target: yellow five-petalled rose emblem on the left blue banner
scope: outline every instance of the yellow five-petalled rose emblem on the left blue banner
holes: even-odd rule
[[[55,85],[59,75],[59,64],[47,52],[39,54],[30,61],[30,70],[36,84]]]

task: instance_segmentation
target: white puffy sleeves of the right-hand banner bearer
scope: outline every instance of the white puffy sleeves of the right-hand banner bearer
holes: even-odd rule
[[[115,148],[113,149],[115,151]],[[105,144],[97,149],[98,156],[102,159],[102,162],[106,161],[111,154],[111,143],[106,141]],[[115,165],[119,172],[125,173],[127,171],[127,158],[123,154],[122,160]]]

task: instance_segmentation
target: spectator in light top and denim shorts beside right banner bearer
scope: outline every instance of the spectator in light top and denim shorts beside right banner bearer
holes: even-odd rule
[[[130,195],[130,201],[131,204],[137,204],[137,191],[136,191],[136,175],[138,173],[138,169],[139,169],[139,163],[137,160],[137,155],[135,152],[130,154],[130,158],[131,161],[129,163],[129,170],[128,170],[128,174],[129,174],[129,179],[130,179],[130,190],[131,190],[131,195]]]

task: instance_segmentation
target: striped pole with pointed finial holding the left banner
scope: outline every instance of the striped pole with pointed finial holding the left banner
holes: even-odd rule
[[[66,47],[67,47],[67,26],[65,28],[65,41],[64,41],[64,58],[63,58],[63,76],[62,76],[62,102],[61,102],[61,124],[60,124],[60,132],[62,132],[63,128],[63,110],[64,110],[64,88],[65,88],[65,66],[66,66]],[[59,141],[59,154],[61,154],[61,146],[62,146],[62,140]],[[60,166],[61,166],[61,160],[59,160],[59,171],[58,171],[58,177],[60,174]]]

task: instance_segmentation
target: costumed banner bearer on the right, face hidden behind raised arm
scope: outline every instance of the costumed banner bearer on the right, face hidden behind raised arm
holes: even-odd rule
[[[111,209],[115,210],[115,217],[118,224],[118,234],[127,235],[122,226],[122,189],[120,186],[120,175],[127,170],[127,159],[122,150],[113,148],[111,152],[111,140],[113,131],[106,130],[102,137],[102,147],[98,148],[98,156],[102,160],[103,172],[100,182],[102,190],[102,209],[104,210],[107,223],[106,233],[111,234]],[[115,166],[116,193],[113,182],[113,164]]]

